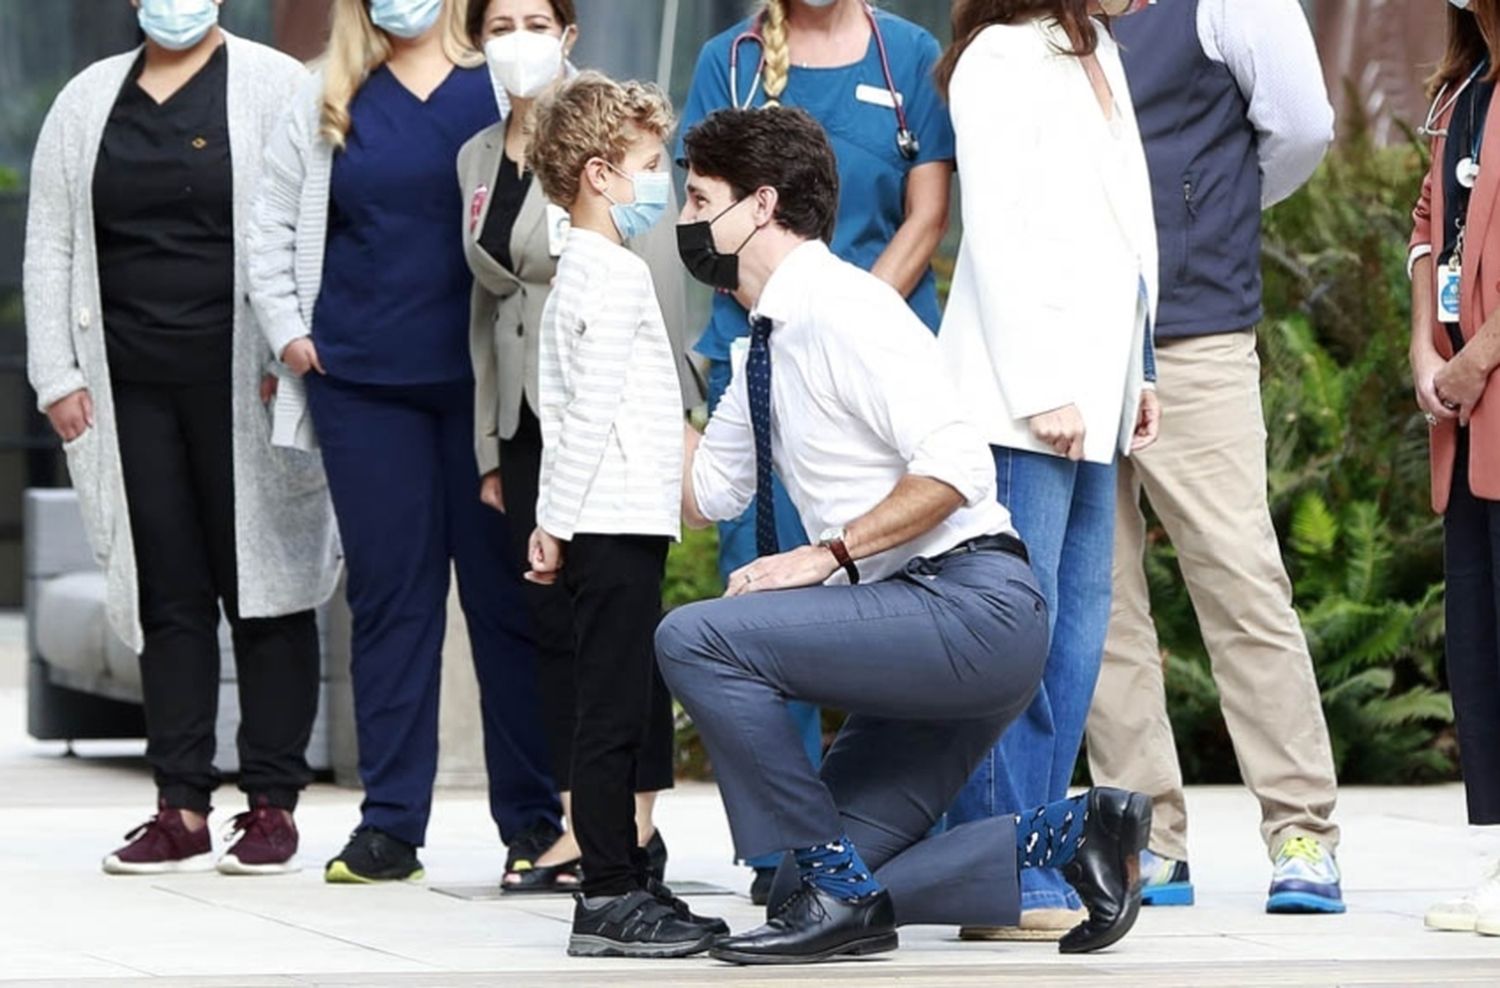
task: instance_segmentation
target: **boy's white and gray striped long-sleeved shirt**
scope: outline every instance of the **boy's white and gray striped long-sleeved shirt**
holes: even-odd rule
[[[540,349],[537,525],[561,540],[678,538],[682,402],[645,261],[574,226]]]

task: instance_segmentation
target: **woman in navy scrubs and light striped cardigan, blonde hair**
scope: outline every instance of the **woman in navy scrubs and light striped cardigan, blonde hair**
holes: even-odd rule
[[[338,0],[322,73],[267,148],[255,303],[306,382],[344,537],[362,822],[328,882],[422,876],[448,568],[474,651],[490,814],[513,856],[558,834],[504,516],[476,490],[472,279],[459,147],[500,117],[456,0]]]

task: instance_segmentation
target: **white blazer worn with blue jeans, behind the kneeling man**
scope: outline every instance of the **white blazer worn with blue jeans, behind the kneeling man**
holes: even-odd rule
[[[1028,420],[1071,403],[1084,459],[1108,463],[1144,385],[1156,225],[1119,48],[1098,36],[1113,120],[1050,18],[987,27],[960,58],[963,244],[938,342],[993,445],[1054,454]]]

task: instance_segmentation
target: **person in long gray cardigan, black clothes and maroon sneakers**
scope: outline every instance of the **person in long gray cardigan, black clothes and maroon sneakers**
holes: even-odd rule
[[[28,373],[64,441],[114,631],[141,655],[158,814],[110,873],[212,868],[219,607],[249,811],[219,870],[291,870],[318,709],[312,609],[338,577],[316,457],[273,450],[270,351],[238,244],[260,148],[303,67],[218,28],[218,0],[136,0],[144,48],[57,97],[26,244]]]

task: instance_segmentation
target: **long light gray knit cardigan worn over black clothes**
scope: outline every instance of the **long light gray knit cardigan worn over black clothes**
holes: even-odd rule
[[[270,48],[225,33],[230,153],[234,160],[234,547],[240,612],[268,618],[315,607],[333,594],[339,540],[322,463],[274,448],[260,382],[272,366],[248,300],[250,204],[262,148],[285,126],[306,69]],[[120,471],[114,399],[100,319],[93,172],[105,123],[140,49],[94,63],[58,94],[32,163],[26,229],[27,370],[42,409],[88,388],[94,427],[64,445],[84,528],[108,585],[114,631],[144,648],[135,546]]]

